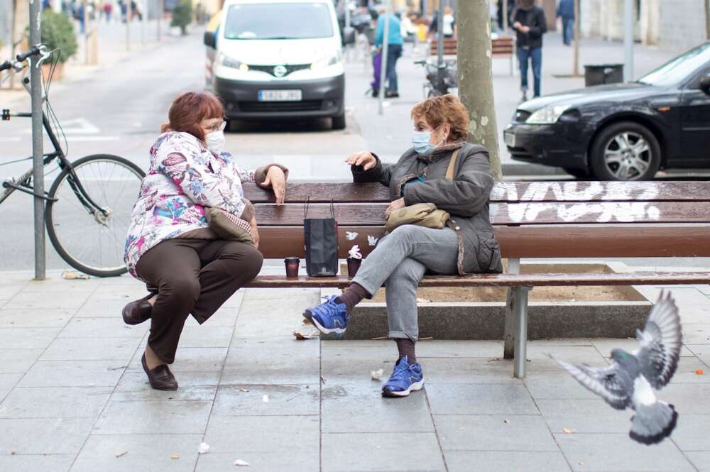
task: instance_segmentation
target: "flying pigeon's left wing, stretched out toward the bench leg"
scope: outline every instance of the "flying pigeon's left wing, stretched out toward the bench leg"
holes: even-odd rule
[[[577,366],[562,361],[557,362],[571,373],[577,382],[602,397],[617,410],[625,410],[631,405],[633,380],[617,363],[612,363],[606,368],[596,368],[586,364]]]

